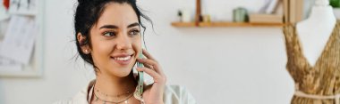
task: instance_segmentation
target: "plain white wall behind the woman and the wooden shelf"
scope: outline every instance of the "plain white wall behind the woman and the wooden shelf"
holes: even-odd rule
[[[162,65],[168,84],[181,84],[200,104],[287,104],[293,80],[285,70],[285,42],[280,28],[174,28],[179,8],[195,0],[137,0],[154,21],[146,41]],[[0,104],[48,104],[72,97],[91,74],[76,53],[72,16],[74,0],[46,1],[44,76],[1,78]],[[204,12],[231,20],[232,9],[259,9],[263,0],[204,1]],[[208,8],[209,7],[209,8]],[[225,19],[222,18],[225,16]]]

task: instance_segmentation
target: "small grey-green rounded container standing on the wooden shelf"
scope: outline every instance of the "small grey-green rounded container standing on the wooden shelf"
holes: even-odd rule
[[[245,22],[248,20],[248,12],[247,9],[238,7],[233,11],[233,20],[234,22]]]

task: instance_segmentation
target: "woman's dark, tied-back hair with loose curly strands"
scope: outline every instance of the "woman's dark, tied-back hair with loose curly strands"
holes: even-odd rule
[[[78,0],[78,5],[74,14],[74,29],[75,29],[75,40],[79,55],[83,60],[91,64],[96,70],[98,69],[92,60],[91,54],[85,54],[81,51],[81,46],[89,45],[90,42],[90,29],[98,22],[99,17],[106,8],[106,4],[117,3],[117,4],[129,4],[132,6],[133,11],[137,14],[138,21],[140,18],[152,21],[148,16],[140,12],[140,8],[136,4],[136,0]],[[146,30],[146,27],[140,22],[140,27]],[[143,32],[143,33],[144,33]],[[85,37],[83,41],[77,39],[77,34],[81,33],[81,36]]]

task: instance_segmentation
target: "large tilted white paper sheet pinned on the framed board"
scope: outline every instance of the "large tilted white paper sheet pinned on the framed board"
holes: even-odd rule
[[[13,16],[4,35],[0,56],[27,65],[38,28],[29,16]]]

